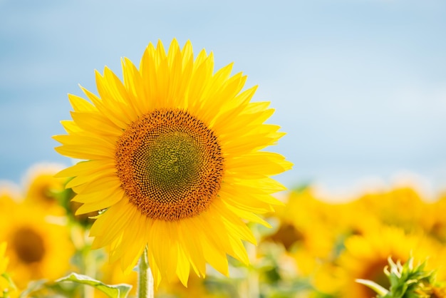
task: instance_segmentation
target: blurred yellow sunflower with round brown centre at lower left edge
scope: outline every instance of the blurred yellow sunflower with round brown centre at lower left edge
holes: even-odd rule
[[[24,203],[0,217],[0,241],[8,242],[9,271],[19,289],[33,279],[61,277],[70,266],[68,229],[45,217],[45,210]]]

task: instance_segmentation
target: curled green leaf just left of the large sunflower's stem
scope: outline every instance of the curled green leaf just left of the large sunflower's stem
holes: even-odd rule
[[[95,287],[100,292],[103,292],[104,294],[108,295],[108,297],[112,298],[125,298],[127,297],[128,292],[130,292],[130,289],[132,289],[130,284],[104,284],[103,282],[93,279],[88,275],[77,274],[74,272],[66,277],[57,279],[56,283],[58,282],[76,282],[78,284],[87,284],[91,287]]]

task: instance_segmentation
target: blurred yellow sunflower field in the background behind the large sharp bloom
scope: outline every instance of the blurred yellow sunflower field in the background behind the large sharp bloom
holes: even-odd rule
[[[107,250],[91,250],[94,219],[74,215],[78,203],[64,189],[67,180],[54,177],[59,170],[35,165],[24,185],[1,185],[4,297],[125,297],[112,291],[120,284],[131,286],[126,293],[135,297],[137,272],[125,275],[108,262]],[[160,284],[155,297],[369,298],[375,292],[356,279],[388,289],[388,257],[404,263],[411,256],[415,263],[427,260],[425,270],[433,270],[436,281],[423,283],[418,296],[401,297],[445,297],[446,195],[428,201],[416,189],[368,190],[342,203],[318,197],[311,185],[281,192],[284,204],[265,217],[271,228],[250,226],[258,245],[246,245],[248,266],[229,257],[229,277],[209,267],[204,279],[191,274],[187,287]],[[72,272],[106,287],[58,281]]]

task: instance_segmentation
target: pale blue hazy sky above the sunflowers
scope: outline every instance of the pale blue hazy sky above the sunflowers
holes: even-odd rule
[[[280,175],[353,185],[401,171],[446,186],[446,2],[0,0],[0,179],[37,162],[71,163],[51,135],[69,118],[67,93],[95,91],[93,70],[120,74],[145,46],[187,39],[216,68],[259,85],[275,148],[294,163]]]

